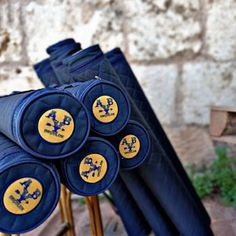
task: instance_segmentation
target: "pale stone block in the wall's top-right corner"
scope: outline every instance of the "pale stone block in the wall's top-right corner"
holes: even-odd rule
[[[216,60],[236,58],[236,2],[221,1],[208,5],[206,51]]]

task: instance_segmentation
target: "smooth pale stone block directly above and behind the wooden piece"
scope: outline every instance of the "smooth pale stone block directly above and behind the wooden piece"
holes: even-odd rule
[[[209,123],[211,106],[235,106],[235,63],[187,63],[183,68],[183,117],[186,124]]]

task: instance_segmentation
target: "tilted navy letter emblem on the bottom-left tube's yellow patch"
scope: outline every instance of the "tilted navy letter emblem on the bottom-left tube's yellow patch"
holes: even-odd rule
[[[33,193],[28,192],[28,188],[31,185],[32,180],[28,179],[27,181],[21,182],[20,184],[23,186],[23,192],[21,193],[19,189],[15,190],[15,193],[19,195],[19,198],[16,201],[21,204],[22,201],[25,201],[26,204],[29,204],[28,199],[36,200],[40,195],[41,192],[39,189],[36,189]]]

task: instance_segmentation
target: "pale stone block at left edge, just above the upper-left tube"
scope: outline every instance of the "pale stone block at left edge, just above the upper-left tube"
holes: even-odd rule
[[[42,87],[31,67],[0,67],[0,95]]]

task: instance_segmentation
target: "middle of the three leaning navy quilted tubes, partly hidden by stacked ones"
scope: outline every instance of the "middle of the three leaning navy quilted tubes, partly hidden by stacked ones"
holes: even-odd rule
[[[61,76],[61,83],[63,80],[68,82],[68,77],[70,81],[77,82],[98,76],[123,86],[98,45],[79,51],[65,59],[64,64],[69,68],[70,73],[66,77]],[[131,97],[130,100],[132,101]],[[151,135],[151,155],[138,168],[144,183],[159,200],[180,234],[212,235],[208,222],[202,218],[203,214],[198,204],[195,203],[188,187],[181,179],[181,173],[178,173],[168,153],[133,102],[131,107],[131,118],[140,122]]]

